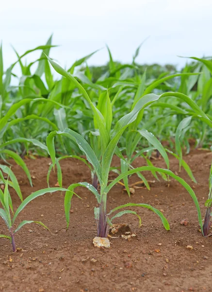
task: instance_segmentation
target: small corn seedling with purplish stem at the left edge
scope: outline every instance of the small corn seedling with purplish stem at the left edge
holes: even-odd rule
[[[33,201],[35,198],[39,196],[42,196],[46,193],[53,193],[56,191],[68,191],[68,190],[61,187],[52,187],[52,188],[46,188],[46,189],[36,191],[32,193],[30,196],[28,196],[24,201],[21,202],[21,204],[19,205],[19,207],[17,208],[14,214],[13,204],[12,204],[12,200],[11,200],[10,193],[8,190],[8,182],[9,181],[7,179],[7,181],[5,181],[4,192],[2,192],[2,190],[0,189],[0,203],[2,205],[2,208],[0,208],[0,217],[4,220],[10,235],[0,234],[0,237],[10,239],[12,243],[13,252],[15,252],[16,251],[16,242],[15,242],[16,232],[19,231],[25,224],[37,223],[49,230],[49,228],[46,225],[44,225],[44,223],[40,221],[33,221],[33,220],[23,220],[16,227],[15,221],[19,213],[26,207],[26,205],[30,201]],[[11,213],[12,213],[12,216],[11,216]]]

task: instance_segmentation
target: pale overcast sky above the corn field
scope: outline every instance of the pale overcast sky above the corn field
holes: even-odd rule
[[[19,54],[43,45],[53,33],[50,56],[62,66],[104,47],[89,64],[108,61],[107,43],[115,60],[131,62],[138,45],[149,36],[139,63],[172,63],[182,56],[212,55],[211,0],[2,0],[0,39],[4,65]],[[38,54],[27,57],[32,61]],[[6,69],[5,68],[5,69]]]

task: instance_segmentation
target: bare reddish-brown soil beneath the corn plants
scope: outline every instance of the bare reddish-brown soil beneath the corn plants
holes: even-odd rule
[[[204,201],[208,196],[208,176],[212,153],[193,151],[185,157],[198,182],[192,183],[182,170],[182,176],[195,190],[202,216]],[[26,175],[19,166],[12,166],[24,198],[31,192],[47,187],[46,175],[49,159],[26,160],[35,177],[30,187]],[[162,160],[152,160],[164,167]],[[170,158],[171,170],[179,171],[178,161]],[[115,164],[118,160],[114,161]],[[139,159],[135,166],[144,165]],[[62,161],[63,182],[90,182],[89,170],[79,161]],[[114,177],[115,175],[113,175]],[[153,180],[150,173],[147,179]],[[137,176],[130,178],[136,182]],[[56,174],[50,177],[51,186],[57,183]],[[210,292],[212,291],[212,237],[203,238],[198,232],[198,220],[194,202],[187,191],[173,179],[170,186],[161,181],[152,183],[151,190],[136,189],[128,198],[120,184],[114,186],[108,196],[108,210],[127,202],[149,203],[160,210],[169,220],[171,230],[163,228],[157,215],[144,208],[133,208],[143,220],[138,229],[138,220],[133,215],[124,215],[115,222],[130,224],[138,237],[127,241],[110,239],[111,249],[98,249],[92,244],[96,236],[93,209],[94,196],[84,188],[77,188],[83,200],[74,197],[70,227],[65,231],[64,194],[46,194],[29,203],[16,223],[22,219],[42,220],[52,234],[36,224],[25,225],[16,234],[16,245],[22,251],[12,252],[7,239],[0,238],[0,291],[4,292]],[[15,208],[19,204],[11,190]],[[189,224],[180,224],[188,219]],[[3,221],[0,233],[7,234]],[[186,248],[192,245],[193,250]],[[157,250],[160,250],[157,252]],[[93,262],[95,259],[96,262]]]

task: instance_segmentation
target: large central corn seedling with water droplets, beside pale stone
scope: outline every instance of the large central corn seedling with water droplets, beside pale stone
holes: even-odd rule
[[[114,184],[118,183],[121,179],[127,177],[128,175],[131,175],[137,172],[146,171],[146,170],[161,172],[163,174],[166,174],[176,179],[179,183],[181,183],[187,189],[187,191],[189,192],[189,194],[195,201],[198,212],[200,211],[198,201],[196,199],[196,195],[193,192],[193,190],[190,188],[190,186],[187,183],[185,183],[183,179],[179,178],[173,172],[167,169],[161,169],[154,166],[138,167],[138,168],[131,169],[129,171],[122,173],[112,183],[108,184],[108,176],[109,176],[109,171],[111,167],[111,162],[112,162],[112,158],[114,156],[114,151],[118,144],[118,141],[120,137],[122,136],[123,132],[125,131],[125,129],[128,128],[128,126],[133,121],[136,120],[141,110],[144,110],[148,105],[150,105],[151,103],[153,103],[154,101],[158,100],[160,97],[163,97],[163,96],[177,96],[183,99],[184,101],[186,101],[189,105],[193,105],[194,102],[190,100],[189,97],[187,97],[184,94],[173,93],[173,92],[167,92],[167,93],[162,94],[161,96],[156,95],[156,94],[147,94],[137,100],[137,103],[135,104],[133,110],[131,110],[130,113],[120,118],[118,122],[116,123],[113,131],[111,131],[113,114],[112,114],[112,107],[111,107],[109,95],[107,94],[107,98],[104,103],[104,114],[102,114],[101,111],[98,110],[94,106],[94,104],[92,103],[91,99],[89,98],[87,92],[84,90],[82,85],[80,85],[78,81],[70,73],[66,72],[63,68],[61,68],[58,64],[56,64],[51,59],[49,59],[49,62],[51,63],[52,67],[56,70],[56,72],[62,74],[63,76],[65,76],[71,82],[75,84],[75,86],[83,94],[84,98],[90,105],[94,113],[95,128],[97,128],[99,131],[99,140],[100,140],[100,146],[101,146],[101,161],[99,162],[95,152],[93,151],[92,147],[88,144],[88,142],[82,137],[82,135],[80,135],[79,133],[71,129],[66,128],[64,131],[53,131],[47,137],[47,146],[49,149],[49,153],[50,153],[53,165],[55,165],[55,161],[56,161],[54,137],[56,135],[65,136],[69,138],[71,141],[74,141],[75,143],[77,143],[80,149],[85,153],[88,162],[92,164],[92,166],[95,169],[95,172],[100,184],[100,193],[94,186],[86,182],[74,183],[69,186],[68,188],[69,191],[65,193],[65,201],[64,201],[67,228],[69,226],[69,212],[70,212],[70,207],[71,207],[71,199],[74,194],[74,189],[78,186],[82,186],[82,187],[88,188],[95,195],[98,201],[98,208],[95,208],[95,218],[97,219],[97,222],[98,222],[98,232],[97,232],[98,237],[107,237],[109,226],[112,224],[112,220],[116,217],[120,217],[126,213],[132,213],[139,217],[139,215],[135,211],[131,211],[131,210],[124,210],[124,211],[120,211],[116,213],[115,215],[113,214],[117,210],[130,207],[130,206],[145,207],[153,211],[162,219],[163,226],[165,227],[165,229],[169,230],[168,221],[167,219],[165,219],[162,212],[148,204],[128,203],[125,205],[118,206],[114,208],[113,210],[111,210],[109,213],[107,213],[107,194],[111,190],[111,188],[114,186]],[[204,118],[207,119],[208,123],[211,123],[209,118],[197,106],[196,106],[196,111],[198,111],[201,115],[203,115]],[[140,220],[140,217],[139,217],[139,220]]]

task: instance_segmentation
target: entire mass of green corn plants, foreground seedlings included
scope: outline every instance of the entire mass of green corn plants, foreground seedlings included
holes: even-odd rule
[[[46,188],[34,192],[24,201],[16,177],[7,165],[0,165],[0,216],[10,235],[0,235],[12,241],[16,251],[16,232],[25,224],[22,221],[14,228],[18,214],[33,199],[47,192],[65,191],[64,207],[66,226],[69,225],[71,199],[78,196],[76,187],[86,187],[96,197],[98,207],[94,208],[98,237],[107,237],[114,218],[127,213],[140,216],[128,209],[131,206],[145,207],[156,213],[163,226],[169,230],[169,223],[163,213],[144,203],[128,203],[107,210],[107,195],[113,186],[123,180],[130,197],[128,179],[136,174],[149,189],[143,171],[150,171],[159,180],[174,178],[181,183],[192,197],[197,210],[203,236],[208,236],[211,226],[212,168],[209,173],[209,197],[206,201],[204,223],[199,203],[193,189],[169,169],[169,155],[179,160],[179,171],[183,167],[190,179],[196,183],[191,168],[182,154],[190,151],[190,139],[196,147],[209,148],[212,140],[212,61],[198,59],[186,65],[182,72],[164,72],[151,78],[145,71],[140,74],[136,64],[139,48],[131,64],[114,62],[109,52],[109,71],[93,80],[92,71],[86,64],[96,52],[77,60],[68,70],[49,58],[51,37],[44,46],[17,55],[17,61],[7,70],[3,68],[2,46],[0,47],[0,155],[3,160],[13,158],[25,171],[32,185],[30,172],[22,159],[26,154],[50,156],[52,164],[49,175],[57,166],[60,187]],[[23,58],[33,51],[41,50],[39,59],[23,64]],[[21,76],[14,73],[20,66]],[[36,69],[33,72],[33,68]],[[52,74],[52,68],[60,76]],[[17,86],[11,79],[16,79]],[[55,141],[54,141],[55,140]],[[168,147],[163,146],[168,142]],[[167,169],[155,167],[150,161],[153,151],[163,157]],[[86,159],[82,158],[86,156]],[[120,159],[120,168],[112,167],[112,159]],[[134,168],[133,161],[142,156],[147,166]],[[76,182],[63,188],[60,161],[72,157],[81,160],[91,171],[92,184]],[[118,174],[109,181],[109,172]],[[7,178],[5,178],[5,173]],[[21,204],[14,213],[8,185],[15,189]],[[124,209],[124,210],[123,210]],[[116,212],[118,211],[118,212]],[[47,228],[42,222],[37,222]]]

